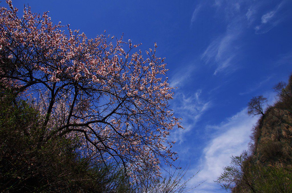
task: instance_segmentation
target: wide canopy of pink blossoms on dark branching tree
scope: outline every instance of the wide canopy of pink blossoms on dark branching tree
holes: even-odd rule
[[[0,10],[0,83],[40,110],[49,131],[40,142],[78,137],[84,156],[123,166],[134,181],[145,171],[160,176],[162,163],[171,166],[175,142],[167,137],[181,126],[169,109],[173,87],[156,43],[143,58],[131,40],[89,39],[30,7],[18,17],[7,3],[10,9]]]

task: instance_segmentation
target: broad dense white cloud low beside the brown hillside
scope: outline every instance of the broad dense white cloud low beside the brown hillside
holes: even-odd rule
[[[213,180],[223,171],[223,166],[230,163],[231,155],[239,155],[247,149],[250,130],[257,119],[258,117],[249,117],[245,108],[219,125],[208,126],[208,129],[213,129],[214,137],[204,148],[198,163],[201,170],[190,180],[189,185],[195,186],[204,180],[206,182],[195,188],[194,192],[219,192],[218,185]],[[193,172],[197,170],[198,168],[193,169]]]

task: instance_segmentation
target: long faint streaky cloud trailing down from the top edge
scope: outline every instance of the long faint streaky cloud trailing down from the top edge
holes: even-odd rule
[[[201,55],[201,59],[209,65],[216,66],[213,75],[230,73],[237,66],[237,56],[240,54],[239,43],[245,29],[246,12],[241,11],[244,1],[216,0],[213,6],[217,8],[217,16],[226,22],[225,33],[211,41]],[[224,17],[225,16],[225,17]]]

